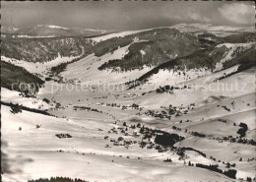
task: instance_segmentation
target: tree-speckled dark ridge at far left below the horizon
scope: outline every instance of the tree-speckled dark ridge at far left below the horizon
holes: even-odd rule
[[[2,38],[2,56],[27,62],[49,62],[61,57],[80,56],[92,44],[86,37]]]

